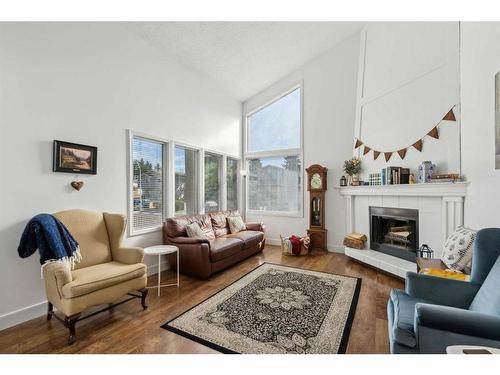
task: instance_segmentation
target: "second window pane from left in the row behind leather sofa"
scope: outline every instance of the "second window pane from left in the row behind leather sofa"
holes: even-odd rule
[[[175,215],[198,213],[198,151],[175,147]]]

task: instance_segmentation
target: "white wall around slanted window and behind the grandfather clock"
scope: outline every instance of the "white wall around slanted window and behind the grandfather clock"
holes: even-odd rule
[[[303,82],[304,166],[328,168],[326,221],[329,250],[340,249],[346,232],[345,204],[334,186],[339,184],[342,163],[352,155],[359,35],[302,66],[243,105],[244,114]],[[304,173],[305,181],[305,173]],[[248,214],[247,221],[263,221],[270,243],[279,235],[305,234],[309,226],[309,196],[304,188],[304,217],[276,217]]]

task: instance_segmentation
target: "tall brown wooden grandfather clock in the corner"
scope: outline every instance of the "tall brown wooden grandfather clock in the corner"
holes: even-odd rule
[[[312,250],[327,250],[325,229],[325,191],[327,168],[314,164],[306,169],[309,191],[309,229]]]

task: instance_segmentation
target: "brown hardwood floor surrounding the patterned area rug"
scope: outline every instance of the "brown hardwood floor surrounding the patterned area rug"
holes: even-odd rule
[[[347,353],[388,353],[386,304],[391,288],[404,287],[401,279],[343,254],[314,253],[293,258],[282,256],[276,246],[267,246],[263,253],[209,280],[181,275],[180,288],[162,288],[161,297],[156,289],[151,289],[146,311],[139,301],[132,301],[78,322],[76,342],[71,346],[66,344],[67,329],[55,319],[46,321],[45,316],[0,331],[0,353],[217,353],[160,326],[266,261],[361,277]],[[175,274],[164,272],[162,278],[165,282],[173,281]],[[150,277],[149,283],[156,283],[156,275]]]

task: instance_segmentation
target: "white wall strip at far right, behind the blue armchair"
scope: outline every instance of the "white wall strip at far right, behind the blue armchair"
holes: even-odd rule
[[[465,224],[500,227],[500,170],[495,170],[495,74],[500,23],[461,23],[462,170],[470,182]]]

